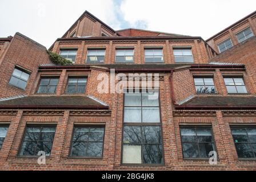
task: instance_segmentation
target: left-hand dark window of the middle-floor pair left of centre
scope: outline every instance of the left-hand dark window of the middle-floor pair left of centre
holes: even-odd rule
[[[41,78],[37,93],[55,93],[58,82],[57,77]]]

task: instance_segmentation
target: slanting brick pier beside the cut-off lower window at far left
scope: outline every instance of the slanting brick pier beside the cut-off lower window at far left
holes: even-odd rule
[[[15,156],[16,150],[13,149],[14,140],[18,133],[19,125],[21,123],[23,111],[18,110],[16,117],[11,121],[9,129],[7,131],[7,135],[5,138],[5,142],[3,143],[3,147],[0,150],[0,160],[5,161],[9,158],[9,156]]]

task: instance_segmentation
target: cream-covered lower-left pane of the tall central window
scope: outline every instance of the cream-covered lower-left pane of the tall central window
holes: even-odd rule
[[[124,164],[141,164],[141,146],[123,146],[123,160]]]

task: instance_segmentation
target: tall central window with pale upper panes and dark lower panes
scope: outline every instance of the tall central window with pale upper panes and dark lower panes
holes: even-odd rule
[[[158,93],[126,93],[123,164],[162,164],[163,144]]]

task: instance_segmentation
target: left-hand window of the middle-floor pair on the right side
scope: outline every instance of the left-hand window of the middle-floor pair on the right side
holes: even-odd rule
[[[197,94],[212,94],[216,93],[213,78],[194,77],[195,90]]]

